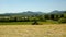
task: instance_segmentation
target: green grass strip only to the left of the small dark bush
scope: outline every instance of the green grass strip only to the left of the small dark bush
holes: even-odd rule
[[[0,22],[0,25],[31,25],[32,22]]]

